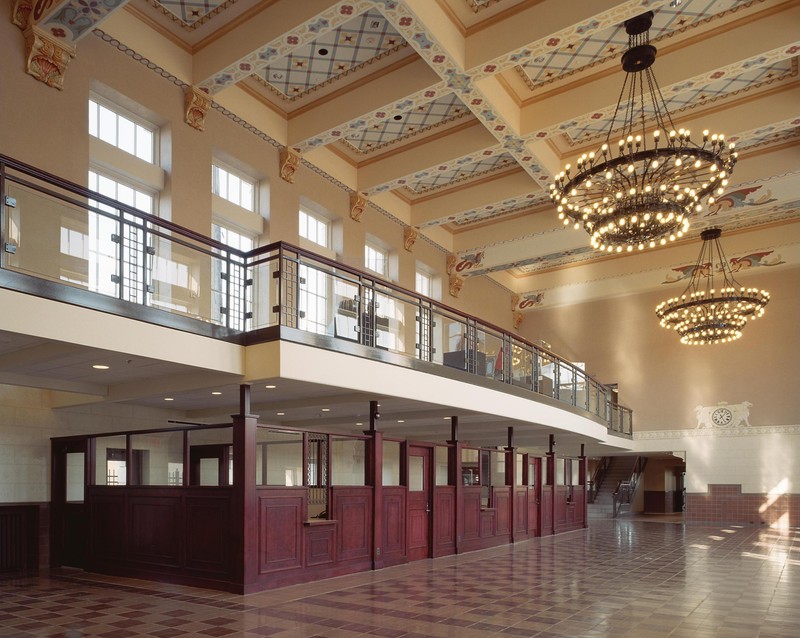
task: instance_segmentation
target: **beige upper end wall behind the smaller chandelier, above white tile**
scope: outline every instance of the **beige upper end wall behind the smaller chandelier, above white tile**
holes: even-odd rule
[[[694,428],[694,408],[720,401],[750,401],[753,425],[800,424],[800,269],[761,268],[742,283],[767,289],[772,300],[734,343],[682,345],[658,324],[654,309],[667,296],[660,290],[535,311],[523,334],[618,383],[637,431]]]

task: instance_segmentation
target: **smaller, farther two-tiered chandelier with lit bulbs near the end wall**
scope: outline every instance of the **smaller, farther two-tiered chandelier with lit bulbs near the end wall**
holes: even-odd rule
[[[768,292],[745,288],[736,281],[719,243],[721,234],[719,228],[700,233],[703,246],[689,285],[680,297],[656,308],[662,327],[674,329],[681,336],[681,343],[735,341],[742,336],[747,322],[763,315],[769,303]]]

